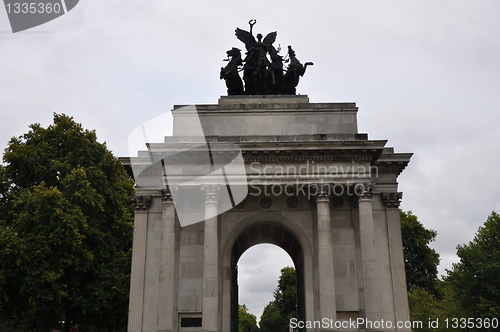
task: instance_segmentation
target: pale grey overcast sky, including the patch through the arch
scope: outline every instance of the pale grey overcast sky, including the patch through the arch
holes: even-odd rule
[[[82,0],[13,34],[0,8],[0,147],[56,112],[129,155],[142,122],[226,94],[225,52],[243,48],[234,29],[255,18],[255,32],[278,31],[276,44],[314,62],[299,93],[356,102],[360,132],[414,153],[399,178],[401,207],[438,232],[445,274],[457,244],[500,211],[499,13],[495,0]],[[240,261],[240,302],[257,315],[292,264],[270,248]]]

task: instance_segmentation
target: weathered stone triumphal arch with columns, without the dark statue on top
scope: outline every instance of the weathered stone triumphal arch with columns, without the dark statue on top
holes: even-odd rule
[[[411,154],[358,133],[357,112],[307,96],[175,106],[172,136],[122,158],[136,179],[128,331],[236,331],[236,263],[260,243],[294,261],[297,319],[337,322],[307,331],[403,331]]]

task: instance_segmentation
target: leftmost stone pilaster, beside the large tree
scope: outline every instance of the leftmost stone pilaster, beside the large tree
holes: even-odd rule
[[[146,234],[151,196],[132,196],[131,201],[135,207],[135,213],[128,331],[141,332],[144,304],[144,274],[146,268]]]

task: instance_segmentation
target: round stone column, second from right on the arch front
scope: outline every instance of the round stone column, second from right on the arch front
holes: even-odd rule
[[[375,228],[373,225],[372,194],[374,185],[371,182],[358,183],[355,194],[359,208],[359,238],[361,245],[361,266],[363,269],[363,289],[365,318],[372,322],[381,321],[382,296],[378,281],[378,266],[375,246]]]

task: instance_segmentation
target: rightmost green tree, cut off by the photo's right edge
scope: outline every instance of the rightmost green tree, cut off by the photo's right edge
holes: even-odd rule
[[[493,211],[457,255],[447,279],[467,316],[500,317],[500,215]]]

